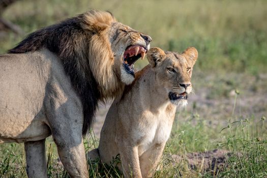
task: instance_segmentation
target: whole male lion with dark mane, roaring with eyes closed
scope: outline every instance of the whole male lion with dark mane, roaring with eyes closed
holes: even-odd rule
[[[108,12],[89,11],[29,34],[0,55],[0,143],[24,142],[29,177],[47,177],[52,134],[71,177],[88,177],[82,135],[98,101],[134,80],[151,37]]]

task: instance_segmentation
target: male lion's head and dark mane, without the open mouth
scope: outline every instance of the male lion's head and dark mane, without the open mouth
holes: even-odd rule
[[[47,48],[56,54],[82,101],[85,134],[98,102],[117,96],[134,80],[122,68],[123,54],[129,45],[149,49],[149,42],[140,35],[109,12],[91,10],[29,34],[10,53]]]

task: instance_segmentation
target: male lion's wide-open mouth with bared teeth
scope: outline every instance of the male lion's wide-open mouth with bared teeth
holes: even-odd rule
[[[133,65],[138,58],[144,58],[146,49],[143,46],[133,45],[126,48],[123,54],[123,66],[127,73],[134,76]]]

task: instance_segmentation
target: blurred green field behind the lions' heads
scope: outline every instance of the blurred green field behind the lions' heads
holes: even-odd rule
[[[3,14],[28,34],[43,26],[83,13],[108,10],[118,21],[153,38],[152,46],[199,52],[197,70],[258,74],[267,66],[267,1],[264,0],[20,0]],[[0,53],[22,36],[0,38]],[[144,62],[143,62],[144,63]],[[139,68],[144,66],[140,63]]]

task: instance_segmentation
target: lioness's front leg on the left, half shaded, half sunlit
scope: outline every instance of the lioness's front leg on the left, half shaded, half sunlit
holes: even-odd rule
[[[141,178],[141,170],[138,157],[138,147],[125,142],[118,146],[122,161],[122,169],[125,177]]]

